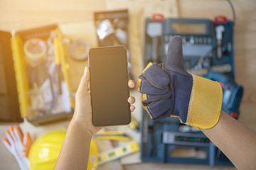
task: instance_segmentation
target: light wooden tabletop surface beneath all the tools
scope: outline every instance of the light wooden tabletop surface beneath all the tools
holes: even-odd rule
[[[240,107],[240,122],[256,132],[256,2],[254,0],[232,0],[236,11],[235,23],[235,79],[245,89]],[[224,0],[0,0],[0,30],[23,30],[38,26],[58,23],[63,34],[69,38],[82,38],[96,46],[95,30],[93,26],[93,12],[114,8],[129,8],[130,38],[132,65],[134,76],[142,71],[142,30],[145,16],[161,12],[166,17],[179,16],[183,18],[210,18],[217,15],[228,16],[232,19],[232,11]],[[73,75],[72,87],[76,91],[82,70],[86,62],[75,63],[77,67],[70,67]],[[135,95],[137,95],[135,93]],[[139,107],[139,100],[136,105]],[[137,109],[135,113],[140,110]],[[139,119],[139,116],[138,116]],[[35,129],[38,135],[56,128],[67,128],[68,123],[50,125],[48,128]],[[4,137],[4,130],[8,125],[0,125],[0,137]],[[111,166],[109,166],[111,167]],[[17,169],[18,164],[0,142],[0,169]],[[210,169],[208,166],[185,166],[174,164],[129,164],[117,169]],[[213,167],[211,169],[223,169]],[[225,169],[233,169],[226,167]]]

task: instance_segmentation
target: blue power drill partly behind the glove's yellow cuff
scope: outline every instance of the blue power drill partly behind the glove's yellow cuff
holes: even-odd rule
[[[238,119],[243,87],[236,84],[234,79],[228,74],[210,71],[207,78],[220,83],[223,89],[222,109],[233,118]]]

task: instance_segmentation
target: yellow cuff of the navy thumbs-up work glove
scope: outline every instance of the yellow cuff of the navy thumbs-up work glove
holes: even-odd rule
[[[223,92],[217,81],[193,75],[191,98],[188,105],[186,124],[196,128],[209,129],[220,118]]]

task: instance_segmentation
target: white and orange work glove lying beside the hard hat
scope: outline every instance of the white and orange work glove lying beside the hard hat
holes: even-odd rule
[[[10,126],[9,130],[6,130],[6,137],[2,141],[9,152],[14,155],[20,169],[30,169],[28,152],[32,145],[32,140],[29,133],[26,132],[23,136],[21,129],[17,125],[14,127]]]

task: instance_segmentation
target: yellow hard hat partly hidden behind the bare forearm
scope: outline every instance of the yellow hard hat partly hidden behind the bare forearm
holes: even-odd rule
[[[28,154],[31,170],[53,169],[65,138],[65,130],[48,132],[33,142]],[[70,156],[71,157],[71,156]],[[73,164],[72,162],[70,162]],[[90,156],[87,169],[97,166],[97,145],[94,140],[90,143]]]

